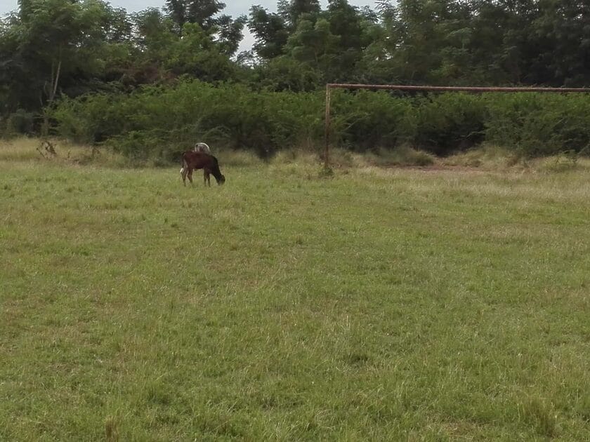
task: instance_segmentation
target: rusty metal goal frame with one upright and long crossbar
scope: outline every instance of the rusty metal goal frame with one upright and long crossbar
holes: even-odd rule
[[[395,89],[397,91],[430,91],[430,92],[585,92],[590,88],[533,88],[533,87],[484,87],[484,86],[405,86],[388,84],[354,84],[327,83],[326,84],[326,117],[325,117],[325,151],[324,167],[329,168],[329,140],[330,140],[330,90],[340,89]]]

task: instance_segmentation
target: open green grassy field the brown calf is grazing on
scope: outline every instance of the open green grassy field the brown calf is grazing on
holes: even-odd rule
[[[590,440],[590,167],[0,145],[0,440]],[[556,163],[558,165],[558,160]]]

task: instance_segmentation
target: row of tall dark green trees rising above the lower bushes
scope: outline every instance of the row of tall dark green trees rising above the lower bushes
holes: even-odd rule
[[[313,94],[328,82],[587,86],[589,9],[572,0],[383,0],[374,9],[280,0],[277,12],[254,5],[231,17],[218,0],[138,13],[103,0],[20,0],[0,22],[0,131],[47,133],[63,126],[55,115],[67,100],[153,95],[187,81],[252,94]],[[238,53],[244,27],[255,43]]]

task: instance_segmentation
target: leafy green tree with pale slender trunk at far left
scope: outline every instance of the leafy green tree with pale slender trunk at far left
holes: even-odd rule
[[[116,17],[99,0],[21,0],[20,12],[0,34],[8,107],[51,107],[61,89],[101,74],[105,42],[129,36],[127,24]]]

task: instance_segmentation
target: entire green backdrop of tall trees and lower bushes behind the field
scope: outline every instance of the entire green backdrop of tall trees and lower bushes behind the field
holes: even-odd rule
[[[348,0],[325,9],[281,0],[276,13],[251,6],[248,18],[224,8],[166,0],[163,9],[128,14],[103,0],[20,1],[0,21],[1,126],[27,133],[53,122],[64,136],[116,139],[126,152],[206,132],[268,155],[320,142],[327,82],[590,83],[583,2],[384,0],[372,11]],[[254,46],[236,55],[246,25]],[[339,95],[334,139],[362,150],[409,142],[435,154],[484,141],[526,155],[589,143],[584,97],[401,98]]]

